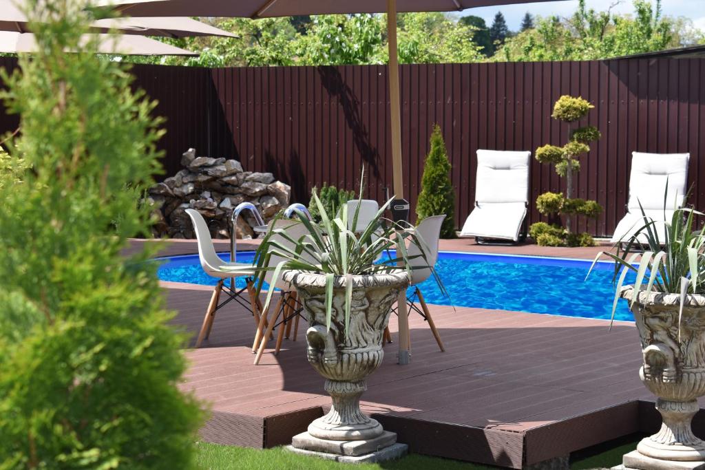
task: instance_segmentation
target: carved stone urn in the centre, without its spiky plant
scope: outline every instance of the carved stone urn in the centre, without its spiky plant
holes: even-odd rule
[[[336,277],[333,287],[331,327],[326,328],[326,278],[321,274],[284,273],[298,292],[308,317],[306,332],[309,363],[326,378],[331,410],[295,435],[288,448],[338,462],[381,462],[403,456],[407,445],[396,442],[396,433],[360,410],[365,379],[382,363],[382,335],[392,304],[409,279],[405,271],[374,276],[353,276],[350,320],[345,325],[346,280]],[[346,334],[347,332],[347,334]]]

